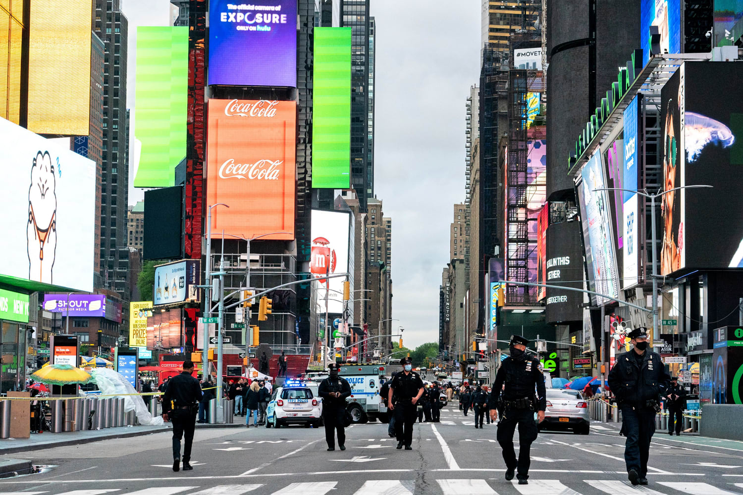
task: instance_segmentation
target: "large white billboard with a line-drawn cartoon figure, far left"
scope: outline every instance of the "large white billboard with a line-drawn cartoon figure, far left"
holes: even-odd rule
[[[91,292],[95,163],[1,118],[0,148],[0,282]]]

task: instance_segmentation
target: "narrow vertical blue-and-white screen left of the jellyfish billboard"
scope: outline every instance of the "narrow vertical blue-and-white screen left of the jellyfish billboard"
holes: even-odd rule
[[[622,246],[622,278],[623,289],[629,289],[637,284],[639,275],[638,263],[640,260],[640,196],[637,191],[637,177],[639,174],[640,142],[637,140],[637,118],[640,96],[635,96],[624,110],[624,166],[623,166],[623,229]]]

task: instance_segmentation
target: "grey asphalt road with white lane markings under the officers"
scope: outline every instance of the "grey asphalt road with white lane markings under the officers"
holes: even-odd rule
[[[516,485],[503,478],[496,426],[473,425],[449,407],[441,423],[415,425],[412,451],[396,450],[380,423],[348,428],[347,449],[334,452],[322,429],[197,430],[194,470],[178,473],[169,433],[50,448],[15,454],[48,468],[0,480],[0,495],[743,494],[743,442],[656,433],[650,485],[633,487],[624,438],[594,422],[588,436],[540,433],[530,483]]]

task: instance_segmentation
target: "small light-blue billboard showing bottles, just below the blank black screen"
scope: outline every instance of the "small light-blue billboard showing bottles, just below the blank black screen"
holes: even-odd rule
[[[198,303],[201,282],[201,260],[182,260],[155,266],[155,306]]]

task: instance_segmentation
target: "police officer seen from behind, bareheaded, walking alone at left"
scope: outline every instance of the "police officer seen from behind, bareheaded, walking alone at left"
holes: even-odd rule
[[[185,435],[184,471],[191,471],[191,444],[196,427],[196,413],[201,401],[201,385],[192,376],[193,361],[184,361],[184,370],[170,379],[163,395],[163,419],[173,424],[173,471],[181,464],[181,437]]]

